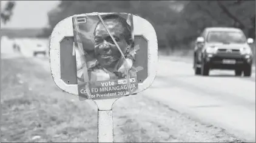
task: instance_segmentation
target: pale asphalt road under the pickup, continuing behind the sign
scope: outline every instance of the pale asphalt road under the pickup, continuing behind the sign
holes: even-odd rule
[[[21,52],[32,56],[31,48]],[[35,61],[49,69],[48,57],[36,57]],[[195,76],[187,59],[161,56],[152,86],[135,96],[159,101],[191,118],[255,142],[255,70],[251,78],[220,70],[211,71],[209,77]]]

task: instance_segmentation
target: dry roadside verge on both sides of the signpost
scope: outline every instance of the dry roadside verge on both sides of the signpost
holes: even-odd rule
[[[33,58],[1,60],[1,142],[97,142],[97,113]],[[115,142],[241,142],[143,94],[113,105]]]

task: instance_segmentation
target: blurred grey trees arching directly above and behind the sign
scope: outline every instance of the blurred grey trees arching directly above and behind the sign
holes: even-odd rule
[[[50,28],[45,28],[43,35],[50,36],[49,32],[55,25],[68,16],[91,12],[124,12],[147,19],[156,27],[157,36],[166,41],[169,23],[175,22],[174,17],[177,15],[170,6],[177,4],[170,1],[61,1],[55,10],[49,12]]]

